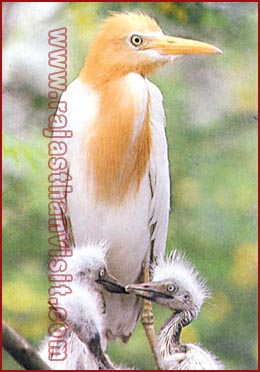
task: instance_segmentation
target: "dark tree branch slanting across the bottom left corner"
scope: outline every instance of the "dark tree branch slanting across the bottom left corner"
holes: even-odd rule
[[[12,327],[2,321],[4,349],[25,369],[50,370],[33,347]]]

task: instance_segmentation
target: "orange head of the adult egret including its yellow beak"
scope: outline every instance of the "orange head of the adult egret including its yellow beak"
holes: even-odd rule
[[[221,50],[213,45],[165,35],[142,13],[112,13],[94,40],[81,75],[95,74],[102,66],[102,72],[110,70],[113,78],[130,72],[145,76],[176,56],[217,53]]]

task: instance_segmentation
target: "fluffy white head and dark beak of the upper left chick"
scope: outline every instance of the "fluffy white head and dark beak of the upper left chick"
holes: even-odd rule
[[[75,283],[86,283],[97,289],[125,293],[125,287],[108,273],[107,249],[105,242],[90,242],[75,248],[73,256],[67,259],[67,273],[73,275]]]

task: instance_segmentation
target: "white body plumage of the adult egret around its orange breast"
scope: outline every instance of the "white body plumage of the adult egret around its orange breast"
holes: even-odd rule
[[[94,193],[92,181],[89,178],[86,183],[84,178],[85,158],[80,149],[83,139],[86,141],[84,133],[89,131],[91,135],[91,118],[98,113],[98,93],[75,80],[61,98],[62,101],[69,102],[67,128],[73,131],[73,138],[67,140],[67,159],[73,177],[70,183],[73,192],[68,194],[67,202],[76,244],[82,244],[86,237],[94,240],[106,239],[110,245],[108,269],[123,284],[138,281],[142,263],[149,260],[151,240],[154,240],[155,256],[164,252],[170,209],[162,95],[154,84],[137,74],[129,74],[126,79],[129,90],[140,90],[141,109],[147,104],[149,91],[153,147],[138,193],[129,194],[125,202],[117,207],[97,202],[91,197]],[[138,119],[135,130],[140,130],[139,127]],[[106,293],[105,302],[106,327],[110,338],[129,336],[138,320],[140,300],[133,295],[117,296]]]

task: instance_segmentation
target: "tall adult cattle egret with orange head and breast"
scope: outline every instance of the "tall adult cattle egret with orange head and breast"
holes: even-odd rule
[[[146,76],[176,56],[195,53],[220,50],[166,36],[147,15],[113,13],[93,41],[79,77],[61,97],[68,107],[67,129],[73,131],[66,156],[75,241],[108,241],[108,270],[123,284],[140,282],[142,275],[147,280],[150,262],[165,250],[168,228],[163,99]],[[133,294],[104,297],[107,337],[127,341],[142,301]],[[146,310],[143,322],[149,328]]]

